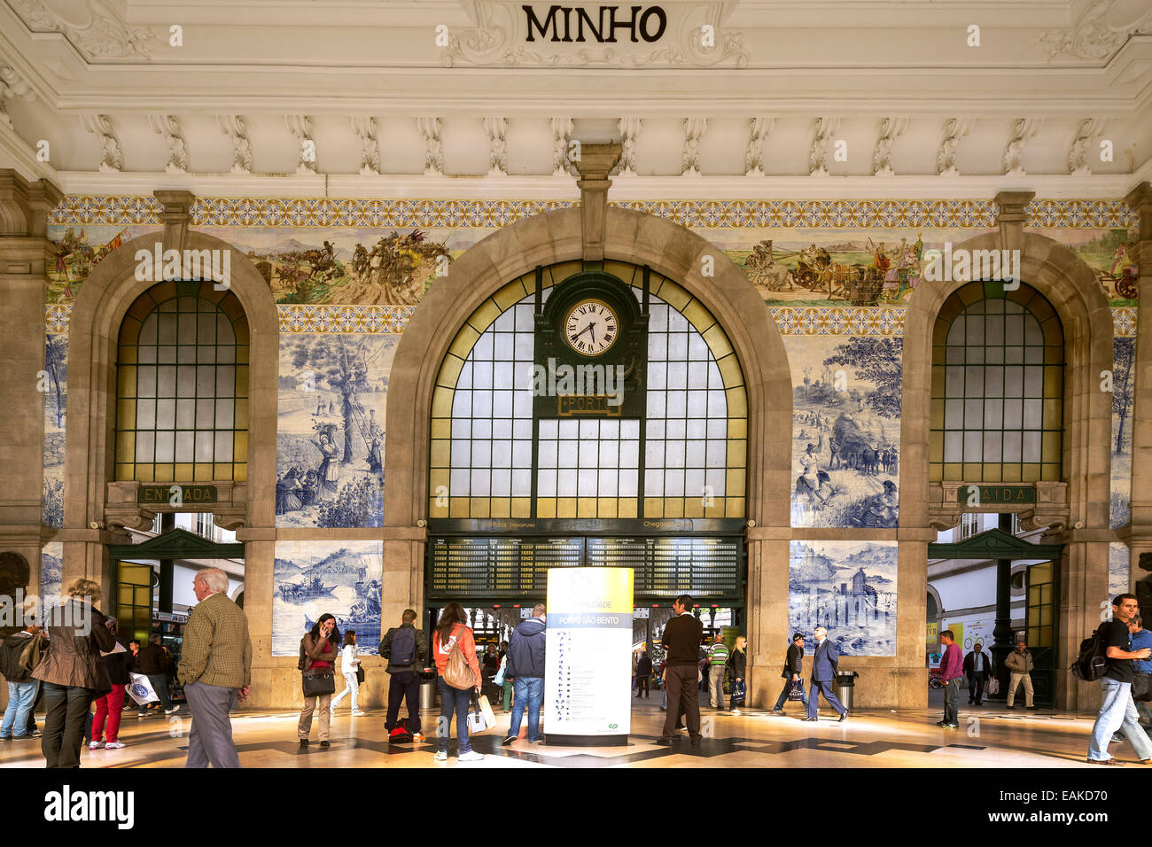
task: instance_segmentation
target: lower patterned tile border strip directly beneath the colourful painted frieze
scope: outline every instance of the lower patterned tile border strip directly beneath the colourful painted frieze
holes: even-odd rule
[[[414,305],[278,305],[280,332],[400,333],[416,311]],[[770,307],[782,335],[903,335],[904,309],[894,307]],[[71,305],[44,308],[47,332],[68,332]],[[1112,310],[1116,338],[1136,335],[1136,309]]]

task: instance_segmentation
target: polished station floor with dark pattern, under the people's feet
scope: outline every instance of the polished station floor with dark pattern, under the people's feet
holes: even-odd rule
[[[627,747],[558,748],[521,740],[502,747],[508,716],[497,712],[497,725],[473,736],[483,762],[464,767],[1093,767],[1084,758],[1092,717],[1051,711],[1008,711],[985,704],[961,711],[958,729],[934,725],[937,711],[861,710],[844,723],[825,712],[817,724],[805,724],[797,709],[785,717],[761,710],[735,716],[706,706],[699,748],[688,736],[670,748],[654,742],[664,712],[659,699],[632,701],[632,732]],[[121,750],[90,751],[84,767],[180,767],[188,749],[187,710],[170,718],[136,718],[126,712]],[[332,724],[332,747],[321,750],[312,728],[312,746],[300,750],[295,712],[238,712],[233,732],[245,767],[444,767],[457,765],[455,740],[447,764],[432,761],[434,740],[424,744],[391,746],[385,740],[384,711],[370,710],[353,718],[341,704]],[[43,721],[41,721],[43,724]],[[425,716],[434,731],[435,716]],[[1128,744],[1115,743],[1112,754],[1135,762]],[[39,742],[0,742],[0,767],[40,767]],[[1098,769],[1099,770],[1099,769]],[[1145,770],[1132,764],[1129,770]]]

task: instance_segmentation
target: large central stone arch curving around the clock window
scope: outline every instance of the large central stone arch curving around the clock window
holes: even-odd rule
[[[609,207],[605,230],[605,258],[649,265],[683,286],[728,334],[748,390],[748,517],[759,527],[787,528],[791,375],[764,300],[715,244],[672,221]],[[579,210],[546,212],[467,250],[424,296],[396,347],[388,379],[385,525],[415,527],[424,517],[432,388],[458,328],[509,280],[537,265],[578,259],[581,249]],[[705,255],[715,259],[714,277],[700,274]]]

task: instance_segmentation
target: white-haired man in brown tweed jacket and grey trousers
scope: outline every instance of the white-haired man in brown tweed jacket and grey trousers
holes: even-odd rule
[[[248,618],[228,599],[228,576],[219,568],[196,574],[198,603],[184,627],[177,674],[192,710],[185,767],[240,767],[232,740],[232,697],[248,698],[252,681],[252,642]]]

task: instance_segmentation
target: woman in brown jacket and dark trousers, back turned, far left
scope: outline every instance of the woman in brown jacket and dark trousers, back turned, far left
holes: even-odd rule
[[[84,721],[92,701],[112,690],[100,651],[116,644],[115,621],[96,608],[100,587],[91,580],[73,582],[68,602],[47,615],[47,650],[32,671],[44,685],[44,738],[40,749],[48,767],[79,767]]]

